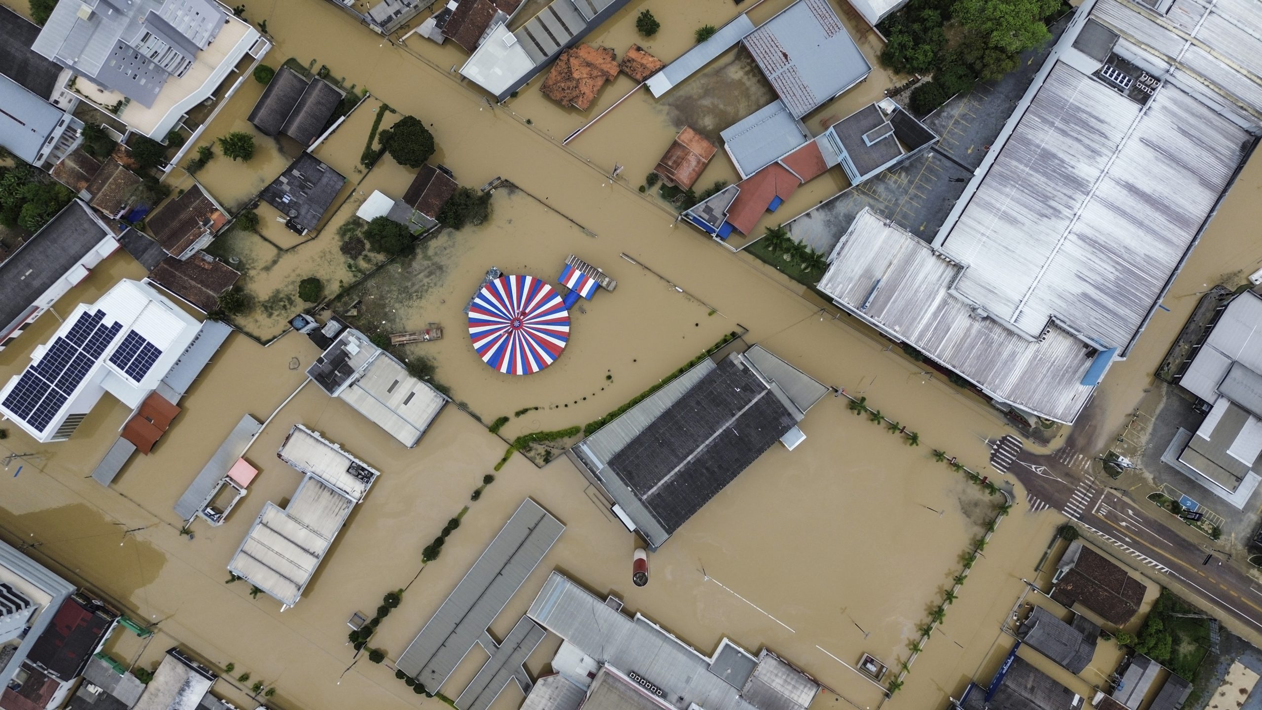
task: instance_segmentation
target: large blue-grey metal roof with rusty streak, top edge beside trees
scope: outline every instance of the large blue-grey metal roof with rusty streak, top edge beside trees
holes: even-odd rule
[[[872,71],[828,0],[798,0],[743,42],[796,119]]]

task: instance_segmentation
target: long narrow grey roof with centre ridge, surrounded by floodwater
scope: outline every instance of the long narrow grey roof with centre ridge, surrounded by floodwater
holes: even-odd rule
[[[442,687],[564,529],[538,503],[525,499],[408,644],[396,667],[432,692]]]

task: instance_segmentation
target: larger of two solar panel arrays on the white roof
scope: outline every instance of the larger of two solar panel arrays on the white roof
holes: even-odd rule
[[[44,431],[122,330],[122,323],[106,326],[103,320],[105,311],[80,316],[66,336],[53,340],[39,363],[18,378],[4,407],[37,431]]]

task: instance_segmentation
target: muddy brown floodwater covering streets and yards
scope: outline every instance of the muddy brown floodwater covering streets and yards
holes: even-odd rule
[[[786,4],[767,0],[757,6],[755,19]],[[632,3],[593,42],[621,53],[635,40],[634,16],[645,8],[654,9],[663,30],[652,43],[642,44],[664,59],[689,45],[695,27],[722,24],[733,13],[723,0]],[[5,539],[39,543],[30,548],[38,558],[158,622],[159,639],[149,646],[134,638],[112,642],[120,657],[151,663],[169,643],[180,643],[220,668],[233,663],[233,676],[250,672],[254,680],[276,687],[274,700],[280,707],[392,710],[437,701],[413,694],[389,666],[352,665],[346,619],[355,611],[371,613],[384,593],[406,587],[403,605],[372,642],[390,658],[398,657],[510,512],[530,495],[567,523],[568,531],[492,632],[504,634],[548,572],[562,569],[598,593],[617,593],[630,611],[642,611],[707,653],[724,635],[750,649],[767,646],[854,706],[875,707],[880,691],[834,657],[853,665],[870,652],[896,667],[909,654],[916,627],[949,586],[991,505],[959,474],[934,462],[930,451],[946,450],[994,476],[984,465],[986,440],[1008,431],[997,412],[940,376],[926,375],[897,349],[774,269],[674,226],[660,201],[636,192],[641,176],[678,130],[666,105],[635,96],[569,147],[558,144],[626,93],[626,80],[607,86],[587,115],[551,105],[538,93],[538,81],[507,110],[492,109],[447,71],[463,58],[453,45],[437,47],[420,38],[410,38],[406,48],[391,45],[332,4],[314,0],[254,3],[246,16],[265,19],[276,39],[268,63],[279,66],[288,57],[303,64],[318,59],[334,76],[345,76],[347,85],[370,87],[375,100],[399,115],[413,114],[432,124],[439,145],[434,159],[451,167],[462,184],[481,186],[504,177],[520,187],[520,192],[497,191],[491,222],[439,236],[418,259],[381,272],[381,291],[365,293],[381,294],[376,297],[385,304],[374,303],[367,312],[379,313],[385,327],[443,322],[448,328],[443,341],[411,347],[433,356],[439,379],[483,419],[541,407],[514,419],[505,433],[596,418],[740,325],[748,331],[747,341],[761,342],[827,384],[862,393],[887,417],[920,432],[923,446],[905,446],[849,413],[843,398],[825,397],[801,424],[808,440],[793,452],[774,447],[716,496],[654,555],[652,581],[640,589],[630,584],[632,537],[567,460],[538,469],[514,456],[472,503],[471,491],[505,450],[504,441],[483,424],[448,407],[419,446],[406,450],[341,400],[308,387],[275,414],[246,454],[261,469],[250,494],[226,524],[194,524],[189,539],[178,534],[182,522],[172,510],[175,499],[241,414],[271,416],[303,383],[303,369],[317,355],[307,339],[294,334],[268,347],[233,335],[180,403],[183,412],[155,451],[136,456],[110,489],[85,476],[127,416],[117,402],[102,400],[63,443],[38,445],[10,427],[0,452],[33,456],[19,476],[0,478]],[[870,56],[875,56],[875,42],[861,38]],[[867,83],[827,111],[843,116],[892,81],[875,71]],[[246,130],[245,116],[260,92],[260,86],[247,81],[207,138]],[[406,188],[413,172],[389,158],[366,177],[357,172],[372,107],[380,106],[361,106],[317,150],[322,159],[346,169],[353,183],[329,226],[316,240],[285,251],[286,256],[250,246],[257,255],[246,265],[246,275],[265,297],[285,292],[313,270],[341,268],[346,278],[355,278],[355,269],[339,264],[333,230],[371,190],[400,196]],[[818,121],[811,121],[811,130],[818,131]],[[279,174],[285,162],[279,147],[264,147],[246,164],[221,155],[197,177],[225,202],[241,203]],[[606,176],[615,162],[627,165],[630,177],[611,184]],[[732,173],[721,155],[702,184]],[[837,187],[820,178],[781,210],[795,214]],[[1203,283],[1213,286],[1224,273],[1256,268],[1262,255],[1253,231],[1262,221],[1259,190],[1262,167],[1249,165],[1176,282],[1166,301],[1171,311],[1160,312],[1136,355],[1111,370],[1093,413],[1100,441],[1142,397],[1152,368],[1195,304],[1186,294],[1208,288]],[[586,312],[575,313],[574,339],[554,368],[529,378],[496,375],[476,359],[462,332],[461,310],[481,273],[493,264],[551,280],[569,253],[610,272],[618,279],[617,291],[598,292],[584,303]],[[356,267],[365,268],[369,264]],[[91,301],[119,278],[140,275],[143,269],[120,253],[63,298],[58,311]],[[255,326],[271,327],[283,311],[278,308],[271,321]],[[56,316],[44,316],[0,352],[0,380],[18,373],[57,325]],[[589,399],[583,400],[584,395]],[[570,407],[564,407],[567,402]],[[549,404],[562,407],[548,409]],[[284,503],[298,484],[298,474],[274,456],[294,423],[323,431],[384,475],[356,508],[307,595],[281,613],[274,600],[252,599],[245,584],[225,584],[225,566],[264,503]],[[1020,488],[1016,498],[1021,503],[1016,514],[1000,527],[950,606],[943,638],[926,646],[890,707],[941,707],[974,673],[989,670],[1000,624],[1063,522],[1053,510],[1029,514]],[[464,505],[469,512],[442,557],[422,570],[420,548]],[[131,528],[141,529],[120,532]],[[540,648],[530,670],[541,671],[554,648],[555,643]],[[461,666],[444,689],[448,695],[472,677],[478,653]],[[217,689],[244,706],[242,685],[249,683],[225,678]],[[496,710],[512,710],[520,700],[520,692],[510,689]],[[819,702],[847,706],[830,695]]]

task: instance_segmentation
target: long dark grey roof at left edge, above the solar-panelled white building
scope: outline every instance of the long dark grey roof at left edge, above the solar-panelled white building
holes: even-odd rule
[[[29,317],[32,304],[110,236],[87,205],[72,201],[0,264],[0,332]]]

